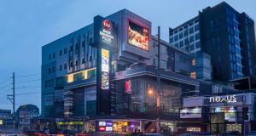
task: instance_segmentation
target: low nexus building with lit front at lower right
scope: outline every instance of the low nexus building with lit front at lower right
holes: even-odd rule
[[[248,135],[256,130],[255,98],[255,93],[184,98],[178,132]]]

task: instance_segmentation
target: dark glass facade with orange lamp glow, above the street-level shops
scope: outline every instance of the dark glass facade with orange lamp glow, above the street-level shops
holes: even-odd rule
[[[162,82],[160,88],[160,111],[162,113],[178,113],[178,109],[181,107],[182,88],[172,86],[167,82]],[[119,98],[117,99],[118,114],[123,114],[126,111],[156,114],[157,95],[157,83],[154,80],[131,79],[131,94],[125,94],[124,97],[123,93],[117,93],[116,97]]]

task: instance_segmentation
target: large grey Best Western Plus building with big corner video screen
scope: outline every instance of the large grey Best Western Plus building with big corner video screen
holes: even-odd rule
[[[162,40],[157,71],[151,31],[150,21],[123,9],[44,45],[42,116],[62,129],[119,133],[154,132],[159,119],[162,132],[177,132],[183,97],[219,85],[194,79],[192,57]]]

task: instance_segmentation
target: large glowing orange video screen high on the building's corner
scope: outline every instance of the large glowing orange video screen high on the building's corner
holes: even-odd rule
[[[128,21],[128,43],[137,48],[141,48],[143,50],[148,51],[148,40],[149,39],[149,31],[147,28],[143,26],[138,26],[136,23]]]

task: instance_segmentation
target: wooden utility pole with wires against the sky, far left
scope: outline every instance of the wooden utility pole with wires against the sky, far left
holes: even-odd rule
[[[13,72],[13,94],[12,95],[7,95],[7,99],[9,99],[11,101],[11,103],[13,104],[13,118],[14,118],[14,130],[15,130],[15,72]]]

